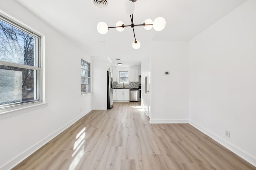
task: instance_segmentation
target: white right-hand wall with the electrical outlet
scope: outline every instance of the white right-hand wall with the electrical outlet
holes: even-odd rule
[[[189,42],[189,119],[256,166],[255,0]]]

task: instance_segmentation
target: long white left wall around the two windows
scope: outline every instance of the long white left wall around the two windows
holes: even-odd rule
[[[15,0],[1,0],[0,10],[45,35],[48,102],[0,115],[0,169],[6,170],[92,110],[92,95],[80,96],[80,59],[91,63],[91,58]]]

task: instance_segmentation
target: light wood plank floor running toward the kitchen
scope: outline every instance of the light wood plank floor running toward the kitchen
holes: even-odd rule
[[[94,110],[14,170],[256,170],[189,124],[150,124],[138,102]]]

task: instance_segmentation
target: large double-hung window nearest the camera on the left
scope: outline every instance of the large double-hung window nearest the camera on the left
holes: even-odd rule
[[[0,108],[41,100],[41,37],[0,16]]]

